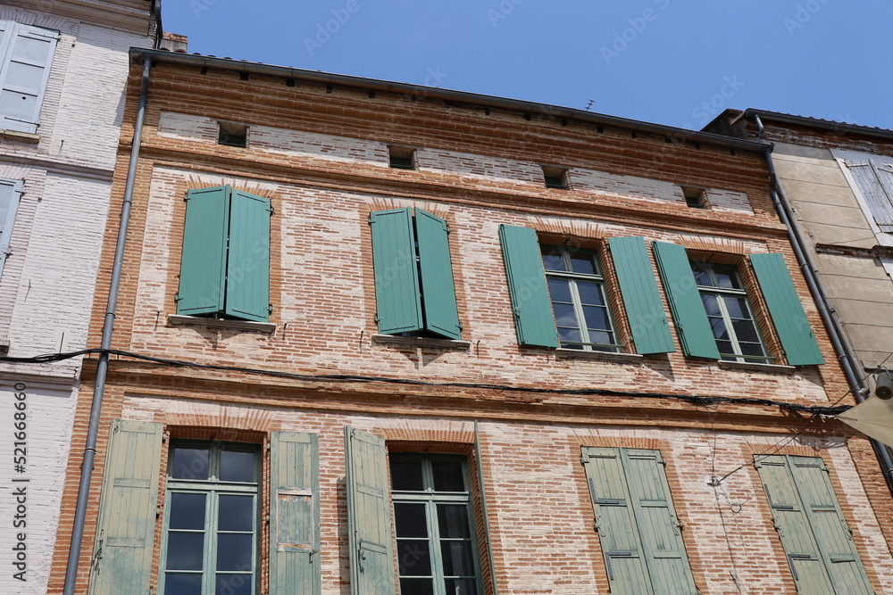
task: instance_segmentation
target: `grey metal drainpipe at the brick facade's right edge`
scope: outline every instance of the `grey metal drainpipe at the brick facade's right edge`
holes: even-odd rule
[[[762,141],[764,134],[763,121],[760,120],[760,117],[757,114],[754,114],[754,120],[759,130],[757,140]],[[785,227],[788,227],[788,238],[791,245],[794,247],[797,263],[800,265],[800,270],[803,272],[803,276],[806,279],[806,285],[809,286],[809,291],[813,294],[815,305],[818,307],[819,314],[822,316],[822,322],[828,329],[831,344],[834,346],[834,351],[838,354],[840,367],[843,368],[844,375],[847,376],[847,383],[853,391],[855,401],[861,403],[865,401],[864,394],[867,392],[867,387],[864,385],[862,378],[858,374],[857,368],[855,368],[856,363],[858,362],[858,359],[855,357],[855,351],[853,350],[853,346],[849,343],[847,335],[843,332],[843,327],[837,316],[837,310],[834,310],[829,303],[824,287],[822,287],[822,282],[818,278],[818,268],[815,266],[813,257],[804,248],[806,243],[803,237],[803,231],[800,229],[800,225],[794,217],[788,197],[784,193],[784,188],[781,187],[781,181],[775,170],[775,162],[772,161],[772,145],[766,145],[764,154],[766,163],[769,166],[769,176],[772,180],[771,194],[772,202],[775,205],[775,211],[778,212],[779,219],[785,224]],[[873,438],[870,440],[872,442],[874,454],[877,456],[878,462],[880,463],[880,469],[884,474],[884,480],[887,482],[887,488],[890,491],[890,495],[893,495],[893,460],[890,459],[889,450],[883,443],[878,442]]]

